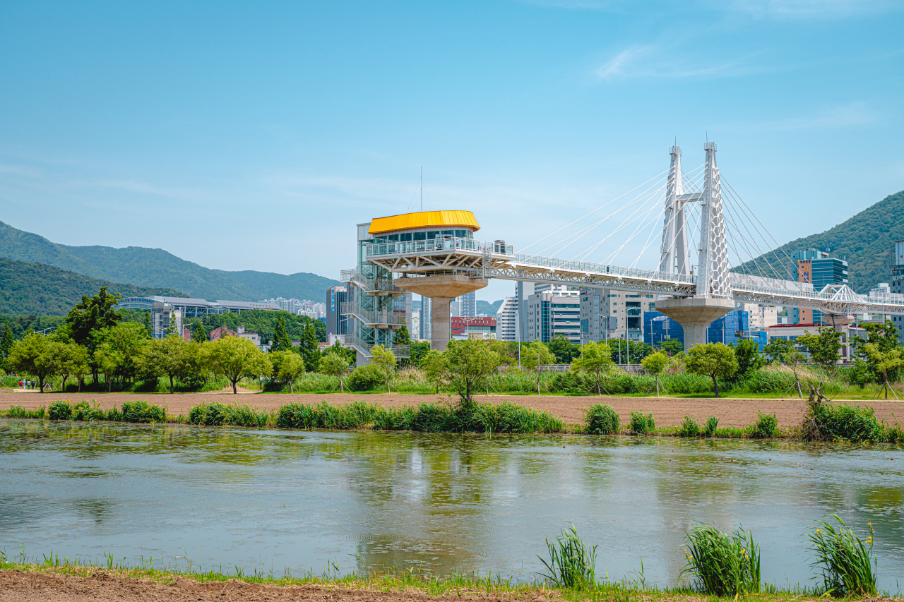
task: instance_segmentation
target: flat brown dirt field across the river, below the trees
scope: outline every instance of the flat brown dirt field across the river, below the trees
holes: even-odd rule
[[[49,406],[53,401],[61,399],[59,393],[14,393],[0,391],[0,409],[7,409],[15,404],[25,409],[37,409]],[[366,400],[389,407],[416,405],[424,401],[445,401],[446,395],[353,395],[353,394],[254,394],[244,393],[239,395],[222,395],[219,393],[86,393],[66,395],[65,399],[97,400],[103,409],[121,405],[127,400],[148,400],[165,406],[172,414],[187,414],[188,410],[202,402],[211,403],[221,401],[227,403],[240,403],[256,406],[260,409],[278,409],[279,406],[293,401],[305,403],[319,403],[321,400],[329,400],[334,404],[345,404],[355,400]],[[643,409],[653,413],[656,425],[668,427],[681,424],[684,415],[687,414],[698,420],[705,420],[710,416],[719,419],[720,427],[746,427],[757,420],[757,411],[765,414],[775,414],[778,424],[783,427],[796,426],[801,423],[806,409],[805,400],[732,400],[732,399],[688,399],[668,397],[562,397],[562,396],[518,396],[518,395],[491,395],[477,396],[477,400],[500,403],[513,401],[535,409],[548,409],[556,416],[560,416],[567,423],[576,424],[583,420],[584,410],[600,401],[608,403],[617,410],[622,420],[627,420],[631,410]],[[858,402],[865,403],[865,402]],[[904,418],[904,402],[898,401],[871,401],[868,402],[875,409],[876,416],[889,424]],[[892,417],[895,412],[897,418]]]

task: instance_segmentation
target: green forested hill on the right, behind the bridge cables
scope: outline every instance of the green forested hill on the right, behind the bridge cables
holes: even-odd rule
[[[847,258],[848,286],[865,295],[877,283],[889,281],[892,240],[904,240],[904,191],[890,194],[831,230],[792,240],[766,255],[773,266],[784,270],[786,255],[804,249],[829,250],[832,257]],[[753,261],[734,271],[759,273]]]

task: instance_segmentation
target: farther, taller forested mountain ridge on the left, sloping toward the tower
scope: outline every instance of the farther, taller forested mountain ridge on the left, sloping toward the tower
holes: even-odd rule
[[[166,252],[144,247],[70,247],[44,237],[16,230],[0,222],[0,257],[38,261],[85,276],[140,287],[170,287],[189,296],[214,301],[259,301],[285,296],[323,301],[325,290],[338,284],[330,278],[306,272],[273,274],[253,270],[229,272],[199,266]]]

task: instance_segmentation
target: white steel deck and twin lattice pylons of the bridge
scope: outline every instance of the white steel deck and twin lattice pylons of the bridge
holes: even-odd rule
[[[822,290],[814,290],[812,285],[781,277],[784,274],[771,265],[769,267],[772,268],[774,277],[730,271],[730,249],[738,256],[739,249],[747,249],[749,257],[758,266],[758,260],[768,261],[763,259],[766,253],[758,252],[758,247],[751,246],[755,243],[744,239],[742,232],[746,228],[750,233],[749,227],[744,224],[739,226],[739,216],[732,216],[731,212],[726,211],[729,207],[723,204],[723,178],[716,165],[715,143],[706,143],[704,150],[706,160],[702,165],[702,186],[692,183],[692,190],[687,191],[684,184],[687,175],[683,174],[681,166],[681,149],[678,146],[670,149],[671,164],[667,183],[664,185],[662,245],[656,269],[546,257],[515,252],[512,245],[501,240],[481,242],[456,237],[368,244],[366,259],[402,278],[447,274],[611,289],[653,294],[661,299],[697,299],[698,302],[710,299],[714,303],[720,301],[720,305],[724,306],[733,306],[737,301],[766,306],[811,308],[826,314],[871,312],[904,315],[904,301],[858,295],[846,285],[829,285]],[[730,191],[732,198],[735,198],[735,194]],[[735,210],[737,212],[738,206],[735,206]],[[692,249],[688,231],[691,225],[689,217],[695,218],[698,211],[696,228],[700,234],[699,244],[696,249]],[[756,220],[755,216],[753,219]],[[755,228],[765,230],[761,222],[756,222],[759,226]],[[583,232],[580,236],[590,230],[592,228],[580,230]],[[754,231],[752,235],[762,236],[762,232]],[[597,249],[608,236],[597,242],[591,250]],[[692,262],[692,250],[697,251],[696,266]],[[771,252],[771,249],[767,248],[766,251]],[[403,279],[398,281],[400,287],[405,288],[403,282]]]

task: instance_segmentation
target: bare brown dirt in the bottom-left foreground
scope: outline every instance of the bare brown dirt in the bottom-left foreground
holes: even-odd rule
[[[476,592],[463,592],[462,599],[491,599]],[[496,599],[497,597],[493,597]],[[536,597],[546,600],[545,597]],[[365,589],[331,588],[315,585],[275,587],[242,581],[208,581],[198,583],[179,578],[173,584],[149,579],[118,577],[104,570],[90,577],[0,570],[0,602],[188,602],[198,600],[306,600],[310,602],[442,602],[453,597],[426,596],[393,590],[376,592]]]

